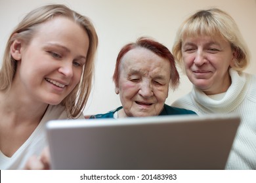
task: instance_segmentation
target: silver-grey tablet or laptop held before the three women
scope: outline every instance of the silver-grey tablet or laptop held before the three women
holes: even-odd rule
[[[53,169],[224,169],[240,118],[177,115],[53,120]]]

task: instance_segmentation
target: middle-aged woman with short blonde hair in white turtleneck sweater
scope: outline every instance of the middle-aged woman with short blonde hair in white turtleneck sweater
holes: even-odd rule
[[[173,106],[240,115],[226,169],[256,169],[256,76],[243,72],[249,50],[236,22],[218,8],[199,10],[181,24],[173,55],[193,84]]]

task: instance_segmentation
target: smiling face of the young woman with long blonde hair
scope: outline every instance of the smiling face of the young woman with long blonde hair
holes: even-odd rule
[[[56,105],[79,83],[89,48],[85,30],[68,18],[56,17],[37,27],[28,45],[14,41],[18,50],[14,84],[28,99]],[[19,58],[20,57],[20,58]]]

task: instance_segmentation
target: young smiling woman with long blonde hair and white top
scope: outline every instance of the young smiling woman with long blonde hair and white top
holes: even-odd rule
[[[64,5],[28,13],[0,71],[0,169],[23,169],[47,146],[49,120],[83,118],[98,45],[89,18]]]

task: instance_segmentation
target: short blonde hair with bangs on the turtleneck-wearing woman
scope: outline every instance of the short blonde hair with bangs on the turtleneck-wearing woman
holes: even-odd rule
[[[184,37],[197,37],[200,35],[221,36],[230,42],[232,50],[236,50],[236,60],[233,69],[236,71],[244,70],[249,64],[249,49],[238,29],[234,19],[219,8],[199,10],[188,17],[179,27],[175,42],[173,44],[173,56],[182,66],[182,39]]]

